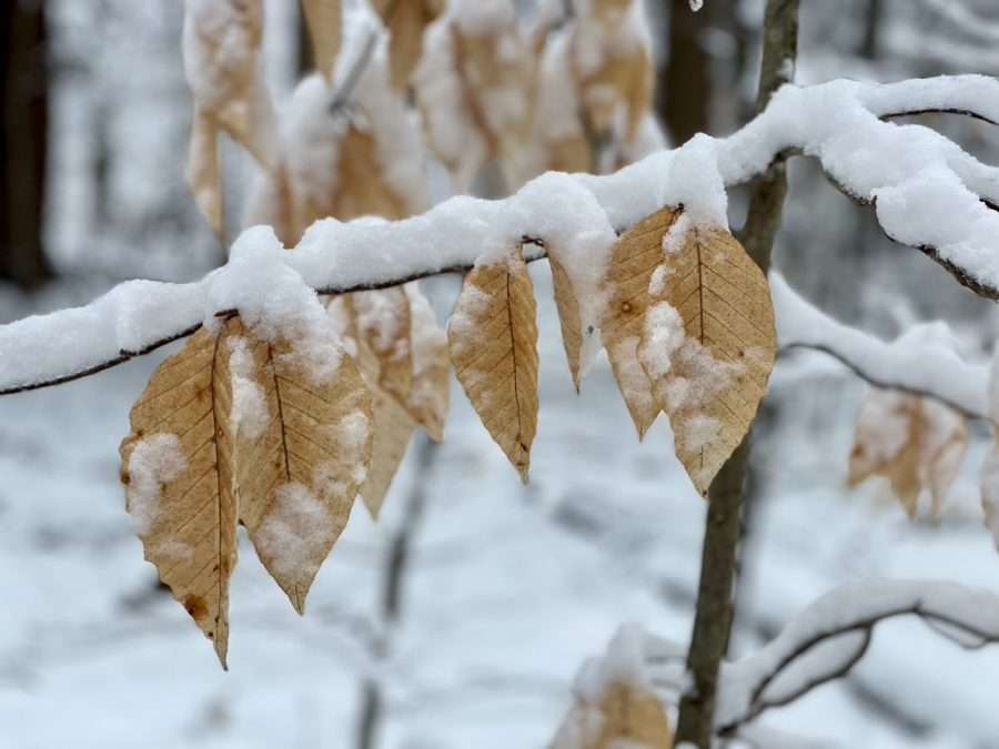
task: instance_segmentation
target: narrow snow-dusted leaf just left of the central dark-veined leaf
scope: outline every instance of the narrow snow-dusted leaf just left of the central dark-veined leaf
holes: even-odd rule
[[[413,346],[413,388],[406,411],[431,439],[444,441],[444,423],[451,404],[451,358],[447,334],[437,325],[434,311],[420,287],[406,284],[410,297],[411,341]]]

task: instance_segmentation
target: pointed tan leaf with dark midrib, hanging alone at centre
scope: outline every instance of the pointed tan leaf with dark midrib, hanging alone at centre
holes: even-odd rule
[[[537,431],[537,308],[519,249],[466,276],[447,330],[458,382],[526,483]]]

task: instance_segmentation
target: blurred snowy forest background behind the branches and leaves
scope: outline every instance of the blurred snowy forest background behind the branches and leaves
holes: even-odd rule
[[[667,140],[748,121],[764,0],[706,0],[697,12],[688,0],[645,4]],[[263,70],[280,109],[312,52],[296,2],[265,9]],[[529,18],[536,4],[518,11]],[[184,179],[183,12],[176,0],[0,7],[0,322],[82,304],[123,280],[190,281],[224,263],[255,166],[223,140],[220,241]],[[797,83],[999,74],[991,0],[803,0],[800,23]],[[999,163],[995,126],[931,119]],[[428,169],[430,200],[446,198],[443,170]],[[962,354],[987,355],[999,335],[993,304],[889,241],[815,163],[793,161],[788,173],[774,265],[799,293],[886,338],[942,318]],[[731,193],[734,225],[746,195]],[[457,283],[424,285],[443,320]],[[578,667],[623,620],[684,641],[704,504],[667,425],[635,439],[606,363],[577,398],[547,297],[539,316],[529,486],[453,398],[445,443],[414,441],[380,523],[354,510],[304,620],[243,556],[229,674],[158,586],[122,512],[118,443],[162,355],[0,399],[0,749],[543,747]],[[877,483],[847,488],[865,387],[821,355],[780,357],[755,427],[736,655],[844,581],[999,588],[975,462],[940,522],[908,520]],[[988,439],[972,424],[971,455]],[[996,695],[999,654],[894,623],[851,675],[765,722],[816,741],[794,746],[988,749],[999,747]]]

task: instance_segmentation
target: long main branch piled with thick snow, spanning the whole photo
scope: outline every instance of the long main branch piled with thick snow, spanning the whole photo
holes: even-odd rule
[[[594,249],[586,236],[595,221],[623,230],[663,205],[683,203],[696,223],[726,226],[726,188],[803,153],[818,159],[849,195],[875,204],[890,237],[927,253],[979,294],[999,298],[999,170],[932,130],[885,121],[922,111],[999,122],[999,80],[785,85],[728,138],[698,135],[607,176],[544,174],[501,201],[456,196],[403,221],[327,219],[281,261],[303,285],[340,293],[465,271],[483,254],[531,237],[541,247],[566,247],[567,266],[589,265],[599,277],[594,260],[605,257],[606,247]],[[133,282],[84,307],[0,327],[0,394],[83,376],[189,334],[199,320],[232,311],[213,308],[208,293],[223,279],[228,285],[240,281],[230,264],[193,284]]]

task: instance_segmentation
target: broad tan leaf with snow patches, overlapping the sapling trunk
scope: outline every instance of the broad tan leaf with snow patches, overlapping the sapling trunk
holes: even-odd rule
[[[774,368],[770,290],[727,231],[684,225],[664,237],[639,358],[669,414],[676,454],[707,494],[749,431]]]

